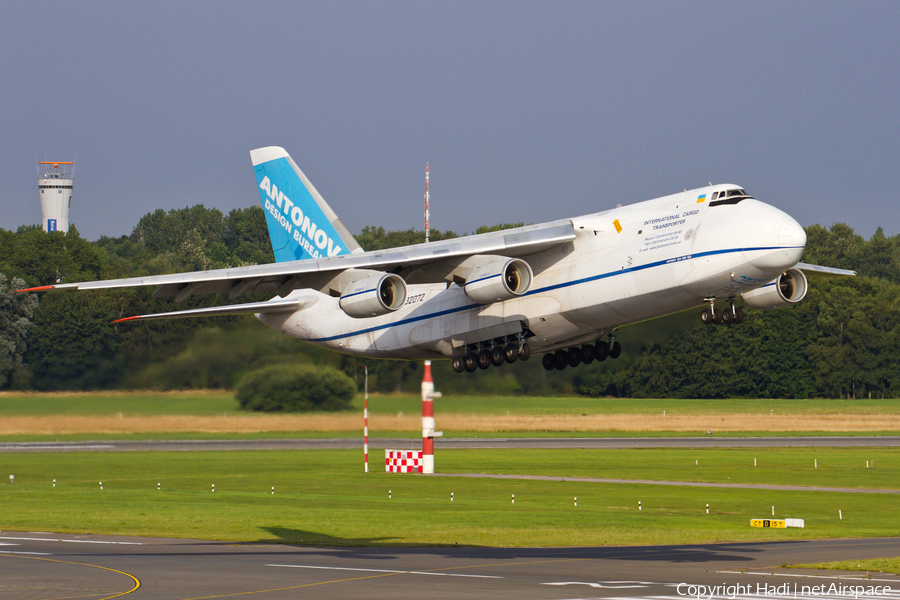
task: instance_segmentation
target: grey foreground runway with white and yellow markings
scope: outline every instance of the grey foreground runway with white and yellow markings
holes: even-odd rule
[[[315,548],[4,531],[0,597],[678,600],[696,598],[702,585],[723,586],[703,590],[705,600],[794,600],[795,592],[802,600],[847,600],[846,594],[803,593],[803,586],[835,584],[879,586],[877,595],[860,597],[900,600],[895,575],[864,579],[865,573],[779,566],[889,556],[900,556],[900,538],[600,548]],[[738,585],[731,588],[738,593],[729,593],[728,586]]]

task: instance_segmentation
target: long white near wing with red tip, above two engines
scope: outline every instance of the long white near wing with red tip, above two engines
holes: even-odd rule
[[[327,288],[329,282],[349,269],[403,273],[406,279],[415,283],[438,283],[451,277],[453,270],[470,256],[528,256],[574,239],[575,227],[571,220],[565,219],[389,250],[213,271],[61,283],[20,291],[157,286],[155,297],[174,297],[179,302],[195,294],[223,292],[231,298],[244,292],[277,292],[287,296],[295,289]]]

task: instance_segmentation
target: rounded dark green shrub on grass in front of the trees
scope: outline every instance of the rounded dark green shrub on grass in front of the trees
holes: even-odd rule
[[[247,373],[235,397],[244,410],[334,411],[349,409],[355,392],[353,380],[331,367],[272,365]]]

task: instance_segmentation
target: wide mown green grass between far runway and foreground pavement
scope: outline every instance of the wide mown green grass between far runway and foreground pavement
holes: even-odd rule
[[[0,485],[0,529],[303,544],[489,546],[870,537],[897,535],[900,529],[898,498],[887,494],[386,474],[377,468],[378,452],[373,453],[373,472],[364,474],[360,454],[2,454],[3,480],[13,473],[16,483]],[[754,455],[764,459],[756,470],[747,466]],[[808,463],[814,455],[820,465],[833,466],[812,469]],[[874,456],[876,468],[856,465],[863,456]],[[694,457],[699,465],[693,465]],[[731,473],[734,482],[895,487],[900,453],[444,450],[437,456],[437,470],[708,481]],[[710,514],[705,513],[707,502]],[[749,520],[771,515],[772,505],[777,517],[803,518],[806,528],[751,528]]]

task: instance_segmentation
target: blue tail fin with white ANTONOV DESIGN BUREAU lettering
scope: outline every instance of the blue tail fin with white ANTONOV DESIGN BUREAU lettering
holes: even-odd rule
[[[276,262],[362,252],[284,148],[257,148],[250,159]]]

